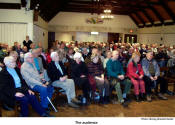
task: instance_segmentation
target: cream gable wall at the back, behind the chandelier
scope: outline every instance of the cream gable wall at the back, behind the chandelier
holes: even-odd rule
[[[130,29],[136,31],[137,26],[126,15],[114,15],[110,21],[103,24],[88,24],[86,19],[96,17],[90,13],[60,12],[49,22],[49,31],[55,32],[118,32],[129,33]]]

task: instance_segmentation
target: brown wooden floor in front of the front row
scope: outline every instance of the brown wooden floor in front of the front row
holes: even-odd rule
[[[74,109],[65,105],[57,105],[58,112],[53,110],[50,114],[55,117],[175,117],[175,96],[168,96],[168,100],[153,98],[152,102],[135,102],[132,100],[128,108],[123,108],[120,104],[98,105],[91,104],[87,107]],[[57,97],[57,101],[65,97]],[[2,111],[3,117],[17,117],[14,111]],[[31,117],[38,117],[32,109]]]

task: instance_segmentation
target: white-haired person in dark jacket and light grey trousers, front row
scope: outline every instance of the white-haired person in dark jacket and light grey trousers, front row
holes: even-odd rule
[[[68,105],[73,108],[78,108],[80,103],[76,99],[75,85],[72,79],[68,79],[67,72],[57,52],[51,53],[52,61],[48,64],[47,73],[52,81],[52,86],[60,87],[65,90],[68,100]]]

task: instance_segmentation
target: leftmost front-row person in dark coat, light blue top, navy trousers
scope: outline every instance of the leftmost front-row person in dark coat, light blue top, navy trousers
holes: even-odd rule
[[[19,101],[23,117],[29,115],[28,104],[31,104],[40,116],[48,116],[22,78],[19,68],[15,68],[15,59],[11,56],[5,57],[4,64],[6,67],[0,73],[2,100],[10,107],[15,105],[15,100]]]

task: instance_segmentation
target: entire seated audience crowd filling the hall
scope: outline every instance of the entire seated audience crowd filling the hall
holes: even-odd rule
[[[28,104],[40,116],[50,116],[54,88],[65,91],[73,108],[109,104],[113,90],[127,107],[132,86],[137,102],[151,102],[153,94],[162,100],[168,99],[165,93],[174,95],[160,68],[171,67],[175,74],[175,46],[56,41],[45,52],[41,43],[36,46],[28,37],[26,41],[23,48],[18,42],[0,44],[0,101],[7,110],[19,102],[20,116],[29,115]],[[77,89],[82,90],[81,98]],[[34,93],[39,93],[40,102]]]

